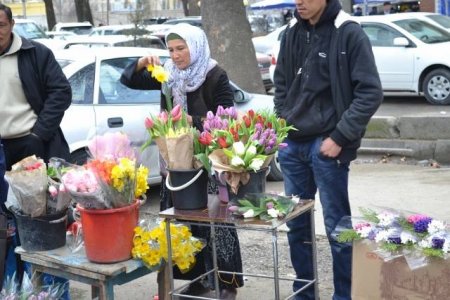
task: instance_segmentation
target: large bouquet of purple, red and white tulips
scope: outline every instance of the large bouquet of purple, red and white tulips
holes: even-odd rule
[[[203,123],[200,143],[213,168],[226,172],[226,181],[233,192],[239,183],[246,184],[248,172],[267,167],[273,155],[286,144],[283,140],[293,126],[268,110],[249,110],[242,116],[234,108],[220,107],[216,114],[208,112]]]

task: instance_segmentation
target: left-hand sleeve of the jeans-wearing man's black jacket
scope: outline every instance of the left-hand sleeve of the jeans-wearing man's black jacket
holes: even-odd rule
[[[280,50],[278,51],[277,65],[273,75],[273,83],[275,86],[275,93],[273,98],[274,110],[278,117],[283,117],[283,107],[287,94],[286,76],[285,76],[285,45],[286,45],[286,31],[280,42]]]

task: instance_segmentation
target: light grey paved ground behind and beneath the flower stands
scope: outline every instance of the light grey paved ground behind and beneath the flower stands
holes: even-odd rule
[[[350,197],[354,214],[358,207],[390,207],[422,212],[435,218],[450,221],[450,168],[436,168],[427,161],[414,162],[394,158],[361,158],[351,166]],[[144,207],[149,216],[157,214],[157,190]],[[282,183],[269,182],[267,191],[281,191]],[[320,204],[316,205],[316,234],[318,241],[319,290],[321,299],[332,297],[332,274],[329,247],[324,238]],[[271,239],[267,233],[239,232],[245,271],[271,272]],[[279,234],[280,271],[293,275],[285,232]],[[281,294],[286,297],[291,288],[281,283]],[[88,299],[89,290],[84,284],[71,283],[72,299]],[[130,284],[115,288],[116,299],[151,300],[157,294],[156,275],[150,274]],[[268,280],[248,278],[239,290],[238,299],[274,299],[273,286]]]

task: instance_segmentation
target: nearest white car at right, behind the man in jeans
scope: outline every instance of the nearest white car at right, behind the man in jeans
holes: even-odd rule
[[[372,43],[385,92],[423,94],[450,104],[450,33],[416,13],[355,17]],[[278,57],[279,43],[274,46]],[[270,74],[276,61],[272,60]]]

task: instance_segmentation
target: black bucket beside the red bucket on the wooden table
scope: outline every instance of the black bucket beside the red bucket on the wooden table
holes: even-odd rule
[[[66,244],[67,210],[32,218],[15,213],[21,246],[26,251],[46,251]]]

